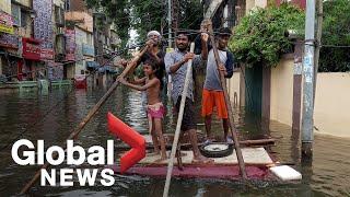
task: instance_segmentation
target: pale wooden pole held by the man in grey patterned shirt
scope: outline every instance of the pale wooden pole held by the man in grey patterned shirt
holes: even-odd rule
[[[195,43],[190,44],[190,53],[194,53],[195,50]],[[187,63],[187,71],[186,71],[186,78],[185,78],[185,84],[184,84],[184,90],[182,94],[182,102],[179,105],[179,113],[177,117],[177,125],[176,125],[176,130],[175,130],[175,136],[174,136],[174,141],[173,141],[173,147],[172,147],[172,152],[171,152],[171,158],[167,164],[167,173],[166,173],[166,179],[165,179],[165,186],[164,186],[164,192],[163,192],[163,197],[167,197],[168,195],[168,188],[171,185],[171,179],[172,179],[172,172],[174,167],[174,158],[177,149],[177,142],[178,142],[178,137],[182,128],[182,123],[183,123],[183,116],[184,116],[184,109],[185,109],[185,101],[187,97],[187,90],[188,90],[188,83],[189,79],[191,78],[191,71],[192,71],[192,60],[188,60]]]

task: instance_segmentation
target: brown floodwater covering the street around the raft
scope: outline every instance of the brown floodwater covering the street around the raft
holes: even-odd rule
[[[0,196],[12,196],[32,178],[38,165],[21,166],[11,158],[11,147],[19,139],[36,142],[45,140],[45,147],[61,146],[70,132],[85,117],[105,90],[52,90],[48,95],[37,92],[0,94]],[[170,106],[170,104],[168,104]],[[164,123],[166,132],[174,132],[171,107]],[[141,134],[148,132],[141,94],[118,88],[101,111],[86,125],[74,141],[84,148],[106,147],[114,137],[107,130],[106,114],[112,112]],[[243,111],[241,111],[243,112]],[[261,136],[254,120],[236,114],[241,136]],[[252,123],[252,124],[247,124]],[[220,128],[219,123],[215,127]],[[205,130],[202,124],[198,129]],[[255,131],[254,131],[255,130]],[[220,132],[219,132],[220,134]],[[253,182],[254,188],[241,182],[218,179],[173,178],[171,196],[350,196],[350,139],[315,136],[312,166],[301,164],[299,140],[291,138],[289,126],[271,123],[270,135],[277,138],[271,153],[281,163],[291,164],[303,174],[296,183]],[[116,152],[117,154],[118,152]],[[59,169],[62,166],[56,166]],[[83,166],[82,169],[89,169]],[[164,179],[141,176],[114,175],[116,183],[105,187],[96,182],[93,187],[40,187],[36,184],[30,194],[34,196],[161,196]]]

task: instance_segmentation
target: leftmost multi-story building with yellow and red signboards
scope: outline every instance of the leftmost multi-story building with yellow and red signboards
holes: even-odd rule
[[[38,40],[35,40],[33,20],[36,16],[31,0],[1,2],[0,74],[4,81],[34,79],[31,72],[39,61]]]

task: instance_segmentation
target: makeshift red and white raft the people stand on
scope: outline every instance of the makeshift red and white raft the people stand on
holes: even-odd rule
[[[144,137],[150,143],[150,136]],[[177,159],[174,160],[173,176],[186,178],[220,178],[220,179],[240,179],[240,166],[235,150],[233,153],[224,158],[212,158],[213,164],[192,163],[192,151],[182,151],[182,163],[184,169],[179,170]],[[249,178],[264,179],[270,176],[269,166],[273,165],[273,161],[264,148],[242,148],[243,159],[246,165],[246,173]],[[170,151],[167,151],[170,155]],[[125,174],[142,175],[153,177],[165,177],[167,171],[167,160],[161,161],[160,155],[155,153],[147,153],[136,166],[129,169]],[[119,166],[109,166],[116,173],[120,173]]]

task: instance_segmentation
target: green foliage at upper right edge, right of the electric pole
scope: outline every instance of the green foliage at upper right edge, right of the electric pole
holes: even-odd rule
[[[329,0],[324,2],[323,45],[350,46],[350,1]],[[320,72],[350,71],[349,48],[322,47]]]

